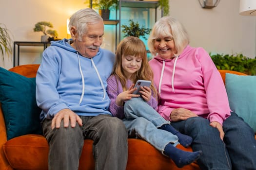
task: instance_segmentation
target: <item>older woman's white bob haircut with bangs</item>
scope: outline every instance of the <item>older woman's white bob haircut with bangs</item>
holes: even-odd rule
[[[155,39],[163,37],[172,37],[175,42],[175,49],[179,55],[189,44],[189,36],[184,26],[175,18],[165,16],[161,17],[154,25],[148,39],[149,51],[156,55],[154,47]]]

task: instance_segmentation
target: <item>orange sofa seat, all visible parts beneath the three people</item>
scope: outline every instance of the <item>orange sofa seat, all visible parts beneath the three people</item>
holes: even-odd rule
[[[79,170],[94,170],[93,140],[84,140]],[[24,135],[8,140],[3,145],[5,156],[16,170],[47,170],[48,142],[41,135]],[[192,152],[191,148],[181,148]],[[126,170],[180,170],[172,160],[163,156],[144,140],[128,139],[128,163]],[[184,167],[199,170],[197,163]]]

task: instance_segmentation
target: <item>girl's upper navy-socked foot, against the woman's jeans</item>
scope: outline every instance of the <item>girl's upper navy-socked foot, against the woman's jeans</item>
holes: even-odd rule
[[[188,147],[192,143],[193,139],[191,136],[181,134],[170,124],[164,124],[161,127],[159,127],[159,129],[171,132],[173,135],[178,136],[179,143],[184,147]]]

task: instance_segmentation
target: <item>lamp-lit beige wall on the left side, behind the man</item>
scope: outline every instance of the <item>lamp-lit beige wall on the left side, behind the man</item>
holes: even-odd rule
[[[86,8],[85,0],[0,0],[0,23],[4,23],[13,35],[14,41],[40,41],[42,32],[34,32],[39,21],[49,21],[59,34],[59,38],[67,38],[66,20],[81,8]],[[109,34],[105,34],[108,43],[103,47],[114,51],[114,27],[106,26]],[[40,63],[43,47],[20,46],[20,65]],[[13,67],[13,55],[0,60],[0,67]]]

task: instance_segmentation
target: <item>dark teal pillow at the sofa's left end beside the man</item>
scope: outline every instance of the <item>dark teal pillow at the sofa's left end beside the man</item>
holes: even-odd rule
[[[0,102],[7,140],[26,134],[41,134],[36,78],[0,68]]]

